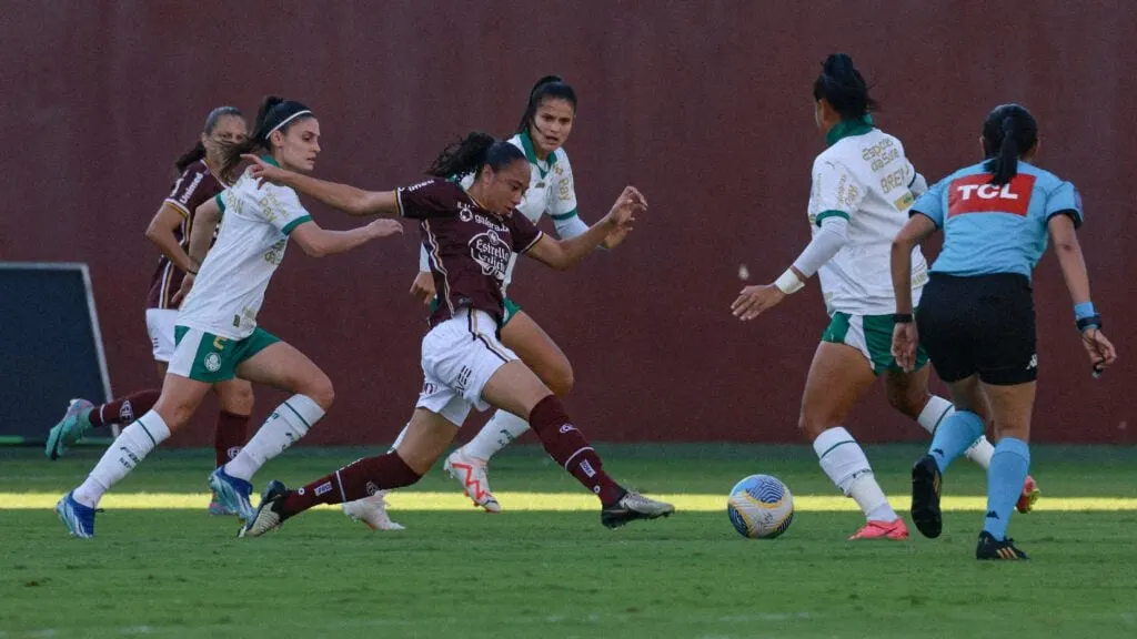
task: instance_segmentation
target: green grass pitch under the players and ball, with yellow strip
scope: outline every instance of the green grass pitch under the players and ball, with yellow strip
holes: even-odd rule
[[[673,497],[667,520],[609,531],[539,449],[492,467],[487,515],[437,468],[395,493],[408,530],[373,533],[317,509],[255,540],[210,517],[211,453],[159,451],[116,487],[98,538],[69,539],[51,506],[99,450],[49,463],[0,449],[0,639],[78,637],[1134,637],[1137,449],[1034,451],[1038,512],[1011,534],[1028,563],[979,563],[984,475],[945,480],[945,532],[848,542],[861,523],[805,447],[603,446],[625,484]],[[911,446],[868,450],[907,511]],[[293,449],[268,479],[301,483],[363,454]],[[780,539],[742,539],[725,495],[778,475],[797,515]],[[910,522],[911,523],[911,522]]]

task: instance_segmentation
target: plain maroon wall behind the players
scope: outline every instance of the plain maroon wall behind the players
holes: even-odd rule
[[[1124,397],[1137,352],[1124,330],[1137,313],[1137,9],[981,6],[9,0],[0,259],[89,263],[115,390],[152,385],[142,308],[157,249],[142,232],[211,107],[251,115],[265,93],[301,99],[321,117],[317,175],[391,188],[415,181],[459,133],[512,131],[533,81],[557,73],[581,97],[567,150],[582,216],[597,219],[625,183],[653,205],[619,251],[571,273],[534,263],[518,272],[516,299],[575,366],[579,423],[600,440],[796,441],[825,325],[816,287],[747,325],[728,307],[740,264],[752,283],[770,281],[808,239],[810,163],[822,148],[810,88],[840,50],[875,84],[878,122],[930,179],[977,159],[993,106],[1034,110],[1040,164],[1085,197],[1094,299],[1123,358],[1089,379],[1047,257],[1036,275],[1037,439],[1137,441]],[[324,225],[351,224],[313,209]],[[409,415],[423,326],[407,296],[416,235],[322,260],[293,251],[273,283],[263,324],[338,385],[309,442],[385,443]],[[258,415],[280,399],[260,392]],[[207,441],[208,413],[176,442]],[[924,437],[879,390],[854,425],[866,440]]]

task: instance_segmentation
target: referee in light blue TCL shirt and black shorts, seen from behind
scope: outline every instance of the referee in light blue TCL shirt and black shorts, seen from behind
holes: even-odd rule
[[[987,516],[976,557],[1026,559],[1006,537],[1006,526],[1030,466],[1027,442],[1038,374],[1030,274],[1046,250],[1047,234],[1095,375],[1113,364],[1117,351],[1089,300],[1074,233],[1082,223],[1081,198],[1073,184],[1030,164],[1038,151],[1034,116],[1019,105],[996,107],[984,123],[981,141],[986,159],[929,189],[893,242],[893,354],[911,368],[919,341],[951,387],[956,407],[912,468],[913,523],[926,537],[939,537],[941,474],[994,418],[998,443],[987,473]],[[940,229],[944,249],[913,323],[912,248]]]

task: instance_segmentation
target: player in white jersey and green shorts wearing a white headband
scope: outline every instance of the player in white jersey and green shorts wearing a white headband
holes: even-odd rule
[[[319,123],[299,102],[266,98],[249,141],[226,149],[222,175],[231,175],[241,155],[257,149],[265,152],[264,161],[310,172],[319,153]],[[304,437],[333,398],[332,382],[323,371],[257,325],[257,312],[289,239],[319,257],[402,231],[391,219],[351,231],[325,231],[312,221],[294,191],[259,185],[248,173],[215,201],[217,207],[198,208],[190,257],[205,260],[179,314],[176,346],[161,396],[151,410],[123,430],[86,481],[56,505],[73,536],[94,537],[94,514],[102,495],[183,426],[213,384],[236,376],[294,393],[236,457],[209,475],[218,500],[246,521],[251,518],[252,474]],[[219,208],[224,208],[224,219],[209,250]]]

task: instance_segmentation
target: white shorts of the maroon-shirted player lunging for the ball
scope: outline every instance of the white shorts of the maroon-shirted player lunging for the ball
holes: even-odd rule
[[[497,339],[497,324],[484,310],[460,309],[423,338],[423,391],[415,408],[462,425],[470,409],[485,410],[482,389],[517,356]]]

